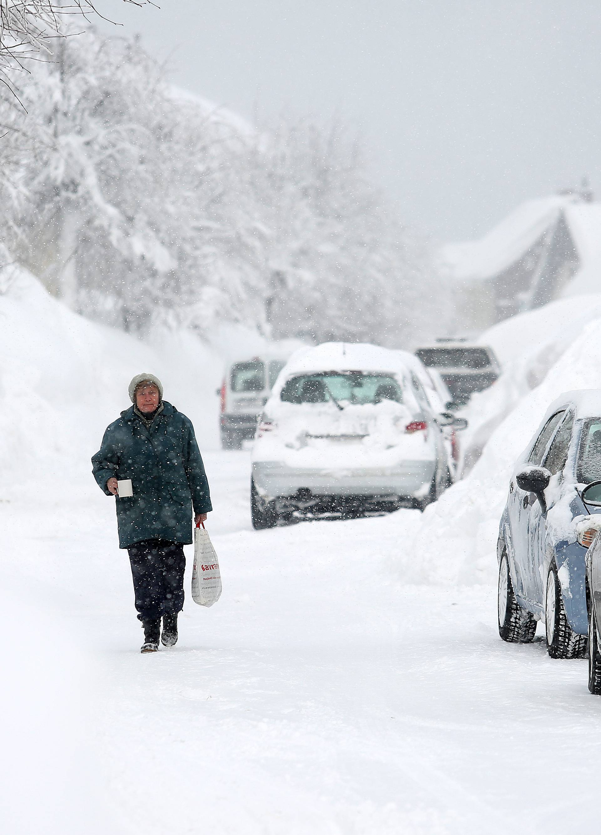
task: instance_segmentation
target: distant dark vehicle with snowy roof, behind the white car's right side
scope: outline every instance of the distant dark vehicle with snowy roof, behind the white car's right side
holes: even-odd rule
[[[426,367],[437,370],[460,405],[467,403],[474,392],[492,386],[500,374],[492,348],[474,343],[440,340],[417,348],[416,356]]]

